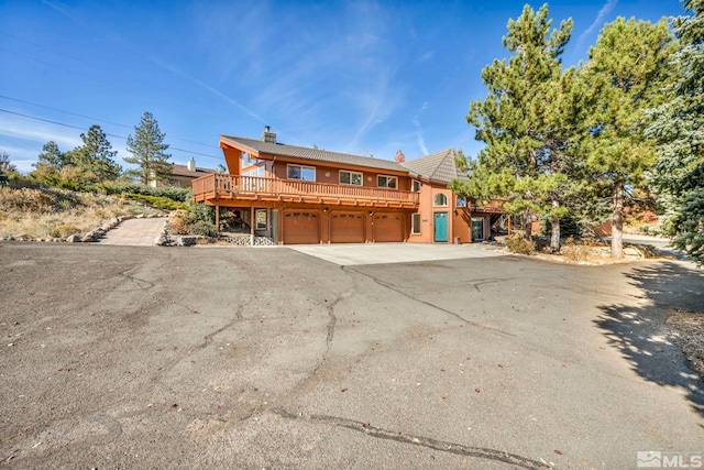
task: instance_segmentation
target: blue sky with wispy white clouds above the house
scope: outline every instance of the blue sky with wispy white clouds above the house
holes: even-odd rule
[[[99,124],[117,160],[150,111],[172,161],[223,163],[218,136],[407,160],[482,144],[466,121],[481,70],[524,1],[0,0],[0,152],[31,171]],[[538,9],[542,2],[530,2]],[[683,14],[678,0],[549,2],[572,18],[576,65],[617,17]],[[51,122],[47,122],[51,121]]]

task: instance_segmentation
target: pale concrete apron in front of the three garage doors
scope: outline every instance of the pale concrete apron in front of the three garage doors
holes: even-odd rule
[[[287,244],[286,248],[343,266],[505,256],[496,247],[429,243]]]

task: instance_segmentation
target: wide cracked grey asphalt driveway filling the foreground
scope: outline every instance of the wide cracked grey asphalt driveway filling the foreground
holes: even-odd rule
[[[702,382],[659,317],[704,305],[703,277],[664,264],[0,243],[0,466],[622,469],[644,450],[704,453]]]

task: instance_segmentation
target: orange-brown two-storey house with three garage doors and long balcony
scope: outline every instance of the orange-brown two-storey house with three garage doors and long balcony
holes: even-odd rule
[[[220,147],[229,174],[195,179],[195,200],[238,210],[275,243],[469,243],[503,214],[448,189],[469,178],[454,149],[396,162],[282,144],[268,127],[258,140],[221,135]]]

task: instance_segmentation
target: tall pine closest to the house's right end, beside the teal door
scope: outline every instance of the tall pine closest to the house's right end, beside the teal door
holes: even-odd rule
[[[488,95],[473,101],[466,117],[486,146],[470,163],[470,183],[454,181],[450,187],[476,199],[506,198],[505,208],[522,216],[527,239],[532,216],[547,214],[552,220],[551,249],[559,251],[572,149],[583,127],[583,107],[576,103],[583,95],[576,72],[563,72],[560,59],[572,20],[557,30],[551,25],[547,4],[537,12],[527,4],[517,20],[508,21],[503,42],[514,55],[482,70]]]

